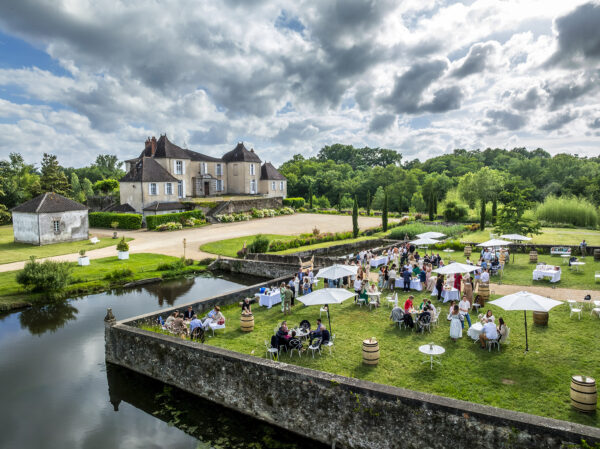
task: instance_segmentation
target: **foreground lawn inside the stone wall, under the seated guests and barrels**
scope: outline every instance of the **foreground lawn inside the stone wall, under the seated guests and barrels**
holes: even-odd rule
[[[428,295],[427,295],[428,296]],[[406,294],[400,294],[401,301]],[[417,298],[421,298],[418,295]],[[437,301],[434,305],[438,307]],[[528,316],[529,348],[524,354],[525,335],[523,312],[505,312],[493,306],[494,315],[503,317],[511,329],[510,344],[498,353],[479,349],[463,333],[453,342],[445,319],[448,306],[443,307],[439,327],[433,332],[417,334],[400,330],[389,320],[390,309],[382,306],[369,311],[354,305],[352,299],[331,307],[331,324],[336,335],[332,355],[325,350],[313,359],[310,354],[281,361],[343,376],[393,385],[411,390],[453,397],[496,407],[532,413],[551,418],[600,426],[600,413],[585,415],[574,411],[569,402],[569,383],[574,374],[600,378],[600,345],[597,343],[600,320],[589,312],[581,320],[569,318],[566,304],[550,313],[548,327],[537,327]],[[281,309],[271,310],[253,305],[255,329],[243,333],[239,326],[239,306],[224,310],[227,328],[207,338],[206,344],[231,349],[256,357],[265,357],[265,340],[270,341],[274,328],[284,319]],[[308,319],[314,326],[319,307],[304,307],[296,302],[287,320],[297,326]],[[362,363],[362,340],[375,337],[380,346],[380,362],[376,367]],[[446,353],[442,365],[429,368],[426,357],[419,353],[422,344],[434,342]]]

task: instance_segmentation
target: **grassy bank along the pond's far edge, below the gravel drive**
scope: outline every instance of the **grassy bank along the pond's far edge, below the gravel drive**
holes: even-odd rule
[[[119,260],[116,256],[93,259],[90,265],[86,267],[80,267],[77,263],[73,262],[71,283],[65,289],[62,296],[84,295],[107,290],[140,279],[167,278],[206,269],[205,266],[191,265],[181,270],[157,270],[161,264],[169,264],[178,260],[177,257],[160,254],[131,254],[129,260]],[[105,279],[114,270],[122,269],[129,269],[133,274],[125,279],[116,281]],[[18,271],[0,273],[0,285],[2,285],[0,310],[18,308],[36,301],[45,301],[40,293],[29,293],[23,289],[16,281],[17,273]]]

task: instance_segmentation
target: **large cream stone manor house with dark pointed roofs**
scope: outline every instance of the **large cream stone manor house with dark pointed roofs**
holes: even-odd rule
[[[178,147],[166,135],[148,138],[135,159],[125,161],[121,212],[178,212],[182,200],[219,195],[287,195],[285,177],[242,142],[221,158]]]

